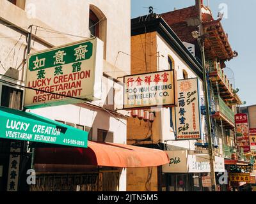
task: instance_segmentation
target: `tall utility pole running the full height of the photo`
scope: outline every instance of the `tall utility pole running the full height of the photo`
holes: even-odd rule
[[[205,40],[205,33],[204,33],[204,27],[202,23],[202,11],[201,11],[201,4],[202,0],[198,0],[199,5],[199,17],[200,17],[200,29],[199,29],[199,38],[196,38],[198,40],[198,44],[200,45],[201,49],[201,55],[202,55],[202,67],[203,67],[203,77],[204,77],[204,98],[205,98],[205,112],[206,112],[206,126],[207,126],[207,136],[208,136],[208,150],[209,150],[209,160],[210,160],[210,166],[211,166],[211,186],[212,191],[216,191],[216,180],[215,180],[215,172],[214,172],[214,154],[213,154],[213,148],[212,148],[212,132],[211,132],[211,115],[209,110],[209,95],[208,95],[208,85],[207,85],[207,76],[206,76],[206,70],[205,70],[205,52],[204,52],[204,40]]]

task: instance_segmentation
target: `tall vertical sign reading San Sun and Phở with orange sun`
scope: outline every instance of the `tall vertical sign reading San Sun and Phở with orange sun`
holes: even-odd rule
[[[178,106],[175,107],[176,139],[201,138],[199,93],[197,78],[178,80]]]

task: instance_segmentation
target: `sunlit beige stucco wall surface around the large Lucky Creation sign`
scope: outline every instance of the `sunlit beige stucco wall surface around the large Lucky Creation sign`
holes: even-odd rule
[[[106,17],[105,20],[102,20],[106,24],[106,57],[103,71],[113,78],[129,74],[131,66],[129,56],[131,54],[131,1],[26,0],[24,4],[24,0],[19,0],[19,5],[15,6],[7,0],[0,0],[0,20],[3,20],[0,22],[0,61],[6,69],[4,70],[0,65],[0,79],[24,85],[26,75],[26,66],[19,67],[27,45],[26,38],[20,35],[19,31],[11,29],[13,26],[8,28],[5,24],[17,25],[24,31],[28,30],[29,25],[37,25],[37,29],[36,26],[33,26],[32,33],[38,38],[53,46],[63,45],[90,36],[88,29],[90,5],[96,6]],[[35,42],[32,38],[31,53],[45,48],[47,47]],[[102,77],[102,83],[102,99],[94,103],[97,106],[104,105],[111,87],[114,86],[116,91],[122,92],[121,85],[113,83],[111,79]],[[19,86],[16,88],[20,89]],[[120,100],[116,103],[120,105]],[[115,113],[111,115],[99,107],[86,105],[38,108],[31,112],[50,119],[93,127],[93,140],[97,140],[97,129],[99,128],[113,131],[113,142],[126,143],[125,124],[127,118],[125,114],[127,112],[121,112],[123,115]],[[120,191],[125,191],[125,189],[126,171],[124,168],[120,175]]]

